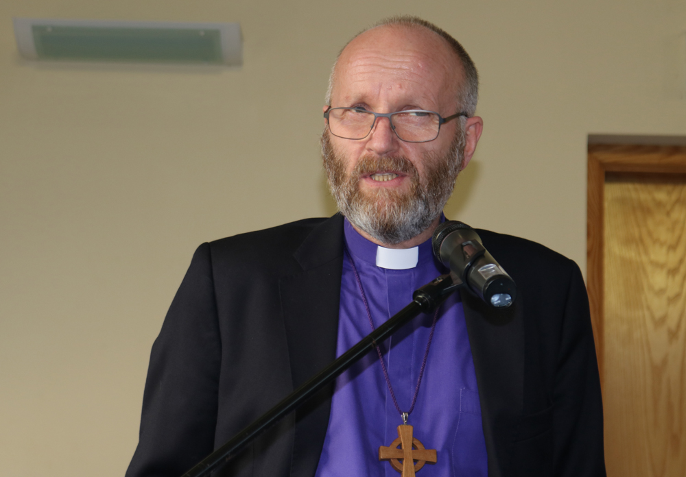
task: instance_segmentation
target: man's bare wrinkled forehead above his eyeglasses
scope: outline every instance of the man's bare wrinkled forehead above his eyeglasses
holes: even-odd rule
[[[422,27],[384,26],[353,39],[338,60],[332,103],[454,103],[462,66],[446,40]]]

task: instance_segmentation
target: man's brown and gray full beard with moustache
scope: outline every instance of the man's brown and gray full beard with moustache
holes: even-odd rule
[[[322,134],[322,158],[329,190],[338,210],[355,228],[381,243],[397,245],[427,230],[434,223],[453,193],[455,180],[462,169],[464,134],[458,128],[445,156],[425,153],[425,177],[403,156],[372,158],[363,156],[351,175],[345,173],[345,160],[333,149],[329,131]],[[377,188],[363,193],[359,178],[376,171],[400,171],[410,177],[410,191],[400,193]]]

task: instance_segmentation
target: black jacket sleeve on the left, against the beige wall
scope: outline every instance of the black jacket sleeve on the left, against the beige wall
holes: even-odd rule
[[[150,356],[126,477],[178,477],[213,451],[222,345],[210,246],[200,245]]]

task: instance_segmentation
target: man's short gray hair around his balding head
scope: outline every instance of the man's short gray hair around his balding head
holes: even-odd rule
[[[479,73],[476,71],[474,62],[471,60],[471,58],[469,58],[469,54],[467,54],[466,50],[462,47],[462,45],[460,45],[460,42],[453,38],[444,29],[434,25],[434,23],[421,19],[418,16],[411,15],[391,16],[390,18],[383,19],[376,25],[366,28],[362,30],[362,32],[359,32],[357,35],[353,36],[353,38],[346,43],[345,47],[338,52],[338,56],[336,56],[336,60],[331,68],[331,74],[329,75],[329,89],[327,90],[327,97],[324,101],[326,101],[326,103],[329,105],[331,104],[331,93],[333,90],[333,82],[335,80],[336,65],[338,64],[341,53],[348,46],[348,44],[372,28],[393,25],[405,27],[423,27],[438,34],[441,38],[448,42],[448,45],[451,47],[453,53],[455,53],[460,59],[462,71],[464,71],[464,84],[460,84],[458,88],[458,102],[462,107],[462,111],[466,112],[468,116],[473,116],[476,112],[476,103],[479,99]]]

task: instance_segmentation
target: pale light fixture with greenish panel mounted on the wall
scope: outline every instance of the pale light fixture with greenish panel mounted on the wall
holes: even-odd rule
[[[13,19],[27,60],[243,63],[238,23]]]

